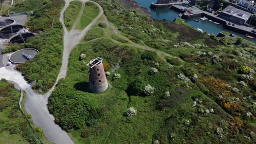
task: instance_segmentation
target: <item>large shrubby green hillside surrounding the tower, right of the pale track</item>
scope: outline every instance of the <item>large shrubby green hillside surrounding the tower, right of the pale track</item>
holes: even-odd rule
[[[254,44],[210,39],[182,23],[152,22],[121,3],[98,2],[129,39],[184,62],[173,57],[164,62],[109,27],[95,26],[84,38],[87,42],[72,51],[67,78],[49,100],[49,110],[75,143],[255,141]],[[188,38],[178,28],[194,36]],[[85,59],[79,59],[82,53]],[[105,70],[113,87],[102,94],[88,92],[85,64],[95,57],[110,65]],[[133,116],[126,113],[130,107]]]

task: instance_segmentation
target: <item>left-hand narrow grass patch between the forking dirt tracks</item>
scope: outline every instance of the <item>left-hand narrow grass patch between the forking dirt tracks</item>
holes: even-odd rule
[[[68,31],[71,30],[75,20],[77,20],[77,16],[82,8],[82,2],[80,1],[72,1],[69,3],[68,8],[64,13],[64,23]]]

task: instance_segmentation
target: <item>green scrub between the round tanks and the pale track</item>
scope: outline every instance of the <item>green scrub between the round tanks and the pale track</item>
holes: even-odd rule
[[[39,50],[35,58],[20,64],[18,69],[22,71],[29,82],[37,80],[34,88],[44,92],[54,85],[61,65],[63,31],[59,17],[62,5],[62,0],[27,0],[16,3],[11,8],[15,13],[33,10],[34,15],[28,15],[26,26],[38,34],[28,40],[25,45],[11,44],[3,52],[11,52],[24,47]]]

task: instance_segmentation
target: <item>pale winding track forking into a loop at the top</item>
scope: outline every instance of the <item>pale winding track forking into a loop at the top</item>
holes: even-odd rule
[[[66,0],[65,7],[61,11],[60,21],[62,23],[63,29],[64,29],[64,36],[63,36],[63,56],[62,56],[62,65],[59,72],[59,75],[57,76],[55,85],[50,89],[50,91],[44,95],[38,94],[31,86],[25,81],[24,77],[16,70],[12,69],[6,69],[5,67],[0,68],[0,79],[7,79],[14,81],[18,83],[19,87],[23,91],[26,92],[26,101],[25,101],[25,110],[27,113],[32,115],[32,121],[33,123],[42,128],[44,131],[44,136],[46,139],[53,143],[60,143],[60,144],[69,144],[74,143],[70,137],[67,135],[65,131],[63,131],[59,125],[57,125],[54,122],[54,117],[51,115],[47,109],[48,104],[48,98],[50,94],[54,91],[54,88],[57,84],[57,82],[65,78],[67,75],[67,68],[68,68],[68,58],[71,51],[74,49],[76,45],[80,43],[80,41],[83,39],[85,34],[89,31],[89,29],[95,25],[96,21],[100,19],[100,17],[103,14],[103,9],[100,7],[98,3],[95,3],[98,8],[100,9],[100,14],[90,23],[89,26],[87,26],[82,31],[79,29],[75,29],[75,25],[71,29],[71,31],[67,31],[67,28],[64,25],[64,11],[67,9],[69,3],[74,0]],[[87,2],[88,0],[80,0],[83,3]],[[84,8],[84,7],[83,7]],[[83,9],[82,9],[83,10]],[[77,19],[80,19],[80,16],[82,13],[80,12]],[[78,21],[76,20],[76,22]]]

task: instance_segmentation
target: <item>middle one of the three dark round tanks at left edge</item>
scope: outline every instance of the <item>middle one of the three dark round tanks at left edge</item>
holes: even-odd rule
[[[1,38],[13,37],[13,35],[21,31],[21,29],[23,28],[24,26],[22,25],[10,25],[10,26],[3,27],[2,29],[0,29],[0,37]]]

